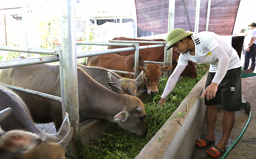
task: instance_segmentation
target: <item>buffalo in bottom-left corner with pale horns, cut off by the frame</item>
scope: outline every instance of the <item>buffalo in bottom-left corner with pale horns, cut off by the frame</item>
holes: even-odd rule
[[[1,159],[64,159],[73,137],[68,114],[57,134],[46,134],[35,126],[19,96],[0,86]]]

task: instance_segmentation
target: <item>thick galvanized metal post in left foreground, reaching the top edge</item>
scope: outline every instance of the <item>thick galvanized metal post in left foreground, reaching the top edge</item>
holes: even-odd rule
[[[74,128],[73,139],[67,149],[67,154],[74,158],[78,154],[78,133],[80,131],[75,20],[74,0],[61,0],[62,54],[60,56],[60,72],[63,71],[63,77],[60,78],[63,78],[66,112],[68,112],[69,121]],[[61,90],[63,89],[61,88]]]

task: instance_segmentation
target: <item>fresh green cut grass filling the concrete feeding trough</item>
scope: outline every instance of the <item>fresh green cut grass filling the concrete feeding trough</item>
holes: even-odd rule
[[[79,159],[134,159],[149,140],[163,126],[166,120],[173,114],[182,100],[208,71],[208,64],[197,64],[197,78],[181,78],[173,91],[167,97],[167,103],[158,106],[161,95],[168,78],[161,77],[159,81],[159,93],[149,97],[145,102],[147,117],[145,122],[148,133],[145,138],[136,137],[120,126],[104,133],[105,137],[97,139],[90,145],[80,145]],[[161,138],[159,138],[161,140]]]

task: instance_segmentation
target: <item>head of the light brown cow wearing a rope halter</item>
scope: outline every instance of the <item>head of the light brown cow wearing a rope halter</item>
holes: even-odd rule
[[[149,95],[158,93],[158,82],[161,72],[169,71],[172,68],[172,66],[160,67],[159,64],[145,64],[144,67],[139,67],[139,71],[143,71],[143,80]]]

